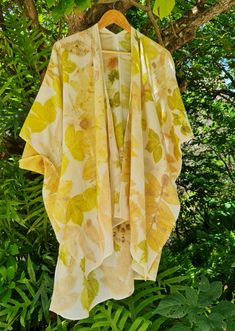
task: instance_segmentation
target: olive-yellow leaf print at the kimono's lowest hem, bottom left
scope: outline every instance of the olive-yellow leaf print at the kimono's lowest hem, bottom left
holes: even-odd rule
[[[89,310],[90,305],[94,298],[97,296],[99,292],[99,283],[94,278],[93,273],[85,278],[83,281],[83,289],[81,292],[81,303],[84,309]]]

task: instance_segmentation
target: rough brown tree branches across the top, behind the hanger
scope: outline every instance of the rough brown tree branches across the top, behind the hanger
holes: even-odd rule
[[[33,24],[39,26],[34,0],[20,0],[20,2],[24,5],[26,15],[32,20]],[[175,22],[170,20],[169,26],[162,31],[160,30],[158,19],[153,15],[149,7],[150,1],[146,3],[147,5],[142,5],[138,0],[100,0],[99,4],[92,6],[92,8],[87,11],[80,14],[71,13],[65,16],[68,24],[68,35],[89,28],[95,24],[108,9],[115,7],[115,9],[122,13],[126,13],[129,8],[135,6],[148,14],[156,32],[156,40],[170,52],[174,52],[184,44],[193,40],[196,36],[197,29],[201,25],[234,6],[235,0],[219,0],[215,5],[209,7],[205,5],[205,0],[197,0],[196,5],[190,11],[186,12],[183,17]],[[115,29],[115,25],[110,28],[110,30],[114,32]]]

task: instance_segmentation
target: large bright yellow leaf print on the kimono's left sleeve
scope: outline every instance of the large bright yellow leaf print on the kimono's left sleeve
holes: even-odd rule
[[[32,132],[41,132],[56,119],[55,104],[53,97],[44,104],[35,101],[29,115],[27,116],[24,127],[29,127]]]

